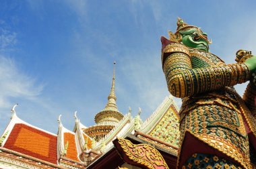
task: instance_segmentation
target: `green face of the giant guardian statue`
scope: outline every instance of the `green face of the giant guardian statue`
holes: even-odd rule
[[[180,31],[179,33],[182,35],[181,42],[183,42],[185,46],[203,50],[205,52],[209,51],[209,41],[207,40],[207,34],[201,32],[201,30],[191,28],[189,30]]]

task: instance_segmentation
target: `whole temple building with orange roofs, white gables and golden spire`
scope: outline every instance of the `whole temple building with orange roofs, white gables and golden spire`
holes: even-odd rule
[[[75,112],[73,130],[63,126],[60,115],[57,134],[51,133],[20,119],[15,105],[1,131],[0,168],[176,168],[179,108],[172,96],[146,121],[141,109],[132,117],[131,109],[121,113],[116,101],[114,66],[108,101],[93,126],[83,125]]]

